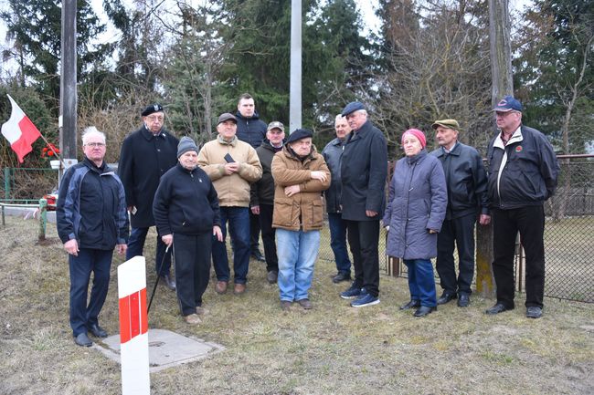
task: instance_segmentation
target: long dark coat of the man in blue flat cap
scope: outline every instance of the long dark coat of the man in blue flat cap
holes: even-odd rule
[[[383,133],[370,120],[346,137],[340,169],[343,219],[381,219],[386,203],[387,144]],[[366,210],[378,214],[370,218],[366,216]]]

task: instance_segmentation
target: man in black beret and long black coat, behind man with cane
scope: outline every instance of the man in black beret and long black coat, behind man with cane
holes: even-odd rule
[[[163,128],[163,106],[151,104],[143,109],[141,115],[143,126],[123,140],[118,163],[132,224],[126,259],[143,255],[146,234],[154,226],[154,192],[161,176],[177,163],[178,140]],[[155,271],[162,277],[165,286],[175,290],[175,280],[169,274],[171,255],[167,254],[163,261],[165,244],[159,236],[156,243]],[[160,267],[162,263],[164,265]]]

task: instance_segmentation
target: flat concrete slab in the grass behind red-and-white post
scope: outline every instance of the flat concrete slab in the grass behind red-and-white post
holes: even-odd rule
[[[172,368],[183,363],[204,359],[225,348],[201,338],[186,338],[165,329],[149,329],[149,365],[151,373]],[[107,358],[120,363],[120,335],[104,338],[93,343]]]

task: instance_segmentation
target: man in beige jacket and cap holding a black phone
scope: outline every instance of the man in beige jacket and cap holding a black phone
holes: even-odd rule
[[[208,141],[198,154],[198,165],[217,190],[223,241],[213,238],[212,260],[217,273],[217,294],[227,292],[229,265],[227,226],[233,244],[234,289],[246,290],[249,269],[249,184],[260,180],[262,166],[258,154],[247,142],[237,138],[237,119],[229,113],[218,117],[216,140]]]

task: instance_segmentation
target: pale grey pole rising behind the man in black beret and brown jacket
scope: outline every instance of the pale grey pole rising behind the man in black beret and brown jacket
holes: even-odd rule
[[[302,0],[291,1],[289,132],[302,127]]]

